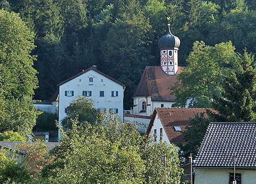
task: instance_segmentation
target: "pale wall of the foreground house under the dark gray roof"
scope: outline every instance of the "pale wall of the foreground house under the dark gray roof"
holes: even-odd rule
[[[229,173],[234,173],[234,170],[227,168],[196,168],[195,184],[228,184]],[[241,173],[242,184],[256,183],[256,170],[236,169],[236,173]]]

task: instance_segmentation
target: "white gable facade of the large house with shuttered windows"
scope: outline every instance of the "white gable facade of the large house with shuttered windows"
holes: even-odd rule
[[[89,85],[89,77],[93,77],[93,85]],[[74,91],[74,96],[65,96],[65,91]],[[113,80],[95,72],[88,72],[59,86],[59,123],[66,116],[65,108],[75,100],[78,95],[82,96],[82,91],[92,91],[92,99],[95,108],[118,108],[119,119],[123,120],[123,86]],[[104,97],[99,96],[99,92],[104,91]],[[118,96],[111,97],[111,91],[118,91]]]

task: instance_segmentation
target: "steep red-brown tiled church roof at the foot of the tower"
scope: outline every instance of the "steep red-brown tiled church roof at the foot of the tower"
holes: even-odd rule
[[[183,67],[178,66],[177,74],[182,72]],[[151,96],[151,101],[174,101],[170,87],[177,82],[176,75],[167,75],[161,66],[146,66],[142,78],[139,81],[133,96]]]

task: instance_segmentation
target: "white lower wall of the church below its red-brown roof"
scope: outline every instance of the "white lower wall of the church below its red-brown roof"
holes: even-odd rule
[[[146,103],[146,112],[140,112],[143,110],[142,103]],[[156,107],[172,107],[174,102],[170,101],[151,101],[150,96],[134,96],[133,97],[133,114],[134,115],[142,115],[142,116],[150,116],[153,114],[153,111]]]

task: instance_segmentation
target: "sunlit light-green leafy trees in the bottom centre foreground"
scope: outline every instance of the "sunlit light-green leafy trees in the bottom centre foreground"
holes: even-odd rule
[[[168,183],[180,179],[174,147],[144,145],[133,125],[120,123],[113,115],[98,119],[96,125],[85,122],[83,126],[74,120],[68,135],[61,130],[60,145],[52,152],[56,157],[42,172],[46,183],[157,183],[163,181],[164,152],[169,160]],[[150,176],[153,172],[161,173]]]

